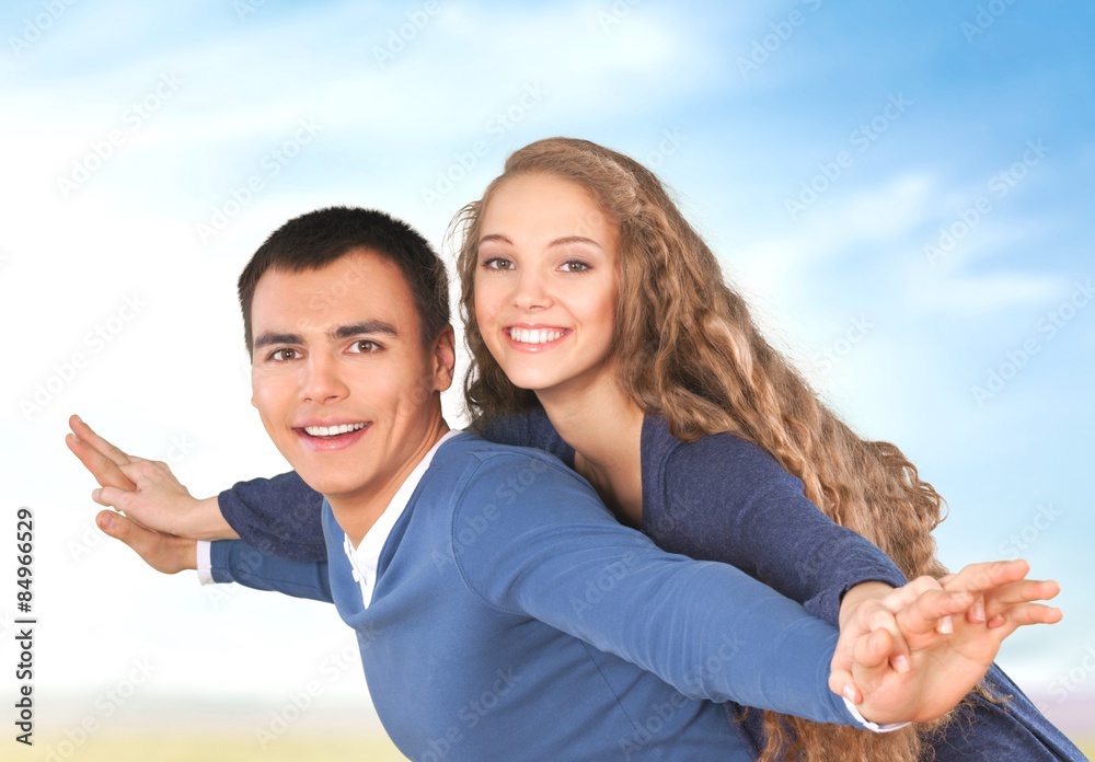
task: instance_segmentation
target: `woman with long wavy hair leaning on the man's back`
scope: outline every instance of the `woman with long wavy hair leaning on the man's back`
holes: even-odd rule
[[[555,453],[666,550],[734,564],[834,623],[903,582],[848,530],[906,577],[945,574],[940,496],[820,403],[641,164],[538,141],[456,229],[465,397],[484,436]],[[318,504],[291,474],[219,497],[240,536],[297,558],[322,553]],[[762,760],[1083,759],[995,667],[955,719],[919,735],[730,714]]]

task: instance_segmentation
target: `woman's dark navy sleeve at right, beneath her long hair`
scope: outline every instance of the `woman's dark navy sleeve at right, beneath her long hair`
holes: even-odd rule
[[[906,582],[886,554],[834,523],[798,478],[737,437],[710,436],[673,450],[659,499],[664,509],[648,528],[659,545],[731,564],[828,622],[837,623],[852,587]]]

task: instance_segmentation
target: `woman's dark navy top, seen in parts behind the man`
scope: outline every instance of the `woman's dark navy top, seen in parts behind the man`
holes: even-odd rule
[[[484,436],[574,463],[573,448],[542,409],[497,420]],[[833,623],[851,586],[904,581],[881,551],[834,524],[806,499],[802,482],[738,437],[713,435],[685,444],[669,434],[665,419],[650,415],[643,424],[642,462],[642,529],[667,551],[733,564]],[[245,541],[285,558],[326,557],[322,498],[296,473],[241,482],[219,501]],[[999,700],[971,694],[957,718],[926,739],[925,762],[1085,759],[998,666],[986,684]],[[759,718],[752,712],[734,723],[753,755],[764,744]]]

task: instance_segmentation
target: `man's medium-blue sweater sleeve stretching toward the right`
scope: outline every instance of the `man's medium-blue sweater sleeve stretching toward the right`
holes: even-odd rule
[[[492,485],[526,474],[496,505]],[[557,462],[497,455],[453,513],[452,553],[487,605],[540,620],[694,698],[853,725],[828,688],[835,628],[742,572],[666,553]]]

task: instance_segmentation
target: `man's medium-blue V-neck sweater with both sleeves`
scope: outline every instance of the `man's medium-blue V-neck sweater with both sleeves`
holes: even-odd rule
[[[323,504],[328,564],[242,542],[217,581],[333,601],[412,760],[748,760],[716,702],[854,724],[827,685],[837,631],[727,565],[659,550],[543,452],[445,442],[368,608]]]

